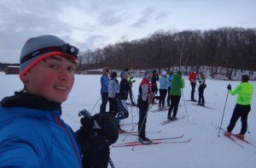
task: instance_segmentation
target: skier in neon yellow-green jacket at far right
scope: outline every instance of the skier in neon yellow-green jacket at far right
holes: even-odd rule
[[[236,100],[236,107],[233,111],[233,115],[230,119],[230,125],[227,127],[227,132],[225,136],[230,137],[233,128],[236,126],[236,121],[241,117],[241,132],[236,134],[236,137],[243,139],[244,134],[247,132],[247,116],[251,110],[251,101],[253,97],[253,85],[248,82],[249,76],[241,76],[241,83],[232,90],[231,85],[228,85],[228,90],[230,94],[238,94]]]

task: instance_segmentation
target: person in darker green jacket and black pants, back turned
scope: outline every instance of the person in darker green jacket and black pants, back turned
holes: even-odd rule
[[[177,72],[172,79],[172,89],[171,89],[171,105],[170,108],[168,110],[168,115],[167,115],[167,119],[168,120],[177,120],[177,108],[178,108],[178,104],[181,98],[181,94],[182,94],[182,89],[185,87],[184,84],[184,80],[181,76],[180,72]],[[172,110],[173,110],[173,115],[172,115]],[[172,117],[171,117],[172,115]]]

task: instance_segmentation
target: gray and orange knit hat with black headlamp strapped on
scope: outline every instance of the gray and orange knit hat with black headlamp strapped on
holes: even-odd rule
[[[74,61],[78,59],[79,49],[62,41],[57,36],[44,35],[28,39],[20,53],[20,78],[43,59],[53,55],[66,56]]]

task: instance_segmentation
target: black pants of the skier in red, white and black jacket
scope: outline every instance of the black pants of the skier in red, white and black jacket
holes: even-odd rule
[[[146,122],[148,115],[148,101],[140,101],[139,105],[139,122],[138,122],[138,137],[146,136]]]

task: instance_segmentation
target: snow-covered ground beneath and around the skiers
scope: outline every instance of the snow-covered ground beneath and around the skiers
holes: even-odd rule
[[[96,105],[96,108],[91,112],[95,114],[99,111],[101,104],[100,98],[100,77],[101,76],[76,76],[76,81],[67,102],[62,104],[63,115],[62,118],[77,130],[80,126],[78,112],[80,109],[88,109],[91,111]],[[184,99],[188,100],[191,87],[187,76],[183,76],[186,81],[186,87],[183,89]],[[119,79],[120,80],[120,79]],[[14,91],[19,91],[22,88],[22,83],[19,76],[0,74],[0,98],[10,96]],[[136,79],[133,86],[133,92],[137,98],[138,85],[140,78]],[[180,102],[180,107],[177,111],[177,117],[186,114],[185,107],[189,114],[189,121],[187,118],[177,120],[165,126],[160,123],[166,120],[167,112],[151,112],[156,109],[154,106],[148,112],[148,121],[146,132],[149,138],[159,137],[177,137],[184,133],[180,140],[187,140],[190,137],[192,140],[189,143],[163,143],[157,145],[137,146],[132,150],[131,147],[125,148],[111,148],[111,158],[116,167],[176,167],[176,168],[254,168],[256,165],[256,147],[247,143],[236,140],[244,148],[236,145],[220,134],[218,137],[218,130],[212,124],[220,125],[221,117],[224,111],[224,102],[227,95],[226,86],[231,83],[235,88],[239,81],[216,81],[207,80],[207,88],[205,90],[206,105],[214,109],[207,109],[189,101]],[[251,132],[246,134],[246,139],[256,145],[256,81],[252,81],[254,86],[252,110],[248,116],[248,128]],[[198,93],[195,92],[196,98]],[[98,104],[96,102],[99,100]],[[137,101],[137,100],[136,100]],[[236,104],[236,96],[229,95],[225,114],[223,127],[229,124],[230,117]],[[185,105],[185,106],[184,106]],[[108,108],[107,108],[108,109]],[[136,123],[138,120],[138,109],[130,108],[130,117],[123,121],[123,123]],[[132,114],[132,115],[131,115]],[[123,126],[126,131],[131,130],[131,126]],[[241,128],[241,121],[238,120],[234,133],[238,133]],[[137,128],[135,129],[137,131]],[[160,133],[154,133],[159,132]],[[125,134],[119,135],[119,140],[116,144],[124,143],[122,140]],[[136,136],[128,136],[125,142],[135,141]],[[110,167],[110,166],[109,166]]]

